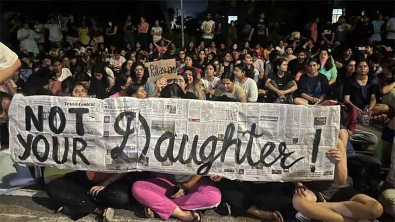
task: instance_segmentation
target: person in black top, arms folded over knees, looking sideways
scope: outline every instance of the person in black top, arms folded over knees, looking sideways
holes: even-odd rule
[[[265,84],[266,88],[268,88],[268,102],[290,104],[293,102],[292,93],[298,89],[298,86],[287,69],[288,66],[285,59],[276,61],[274,72],[269,74]]]

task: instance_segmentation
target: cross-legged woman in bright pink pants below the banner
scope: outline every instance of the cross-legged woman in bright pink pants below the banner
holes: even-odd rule
[[[201,221],[201,213],[196,211],[214,208],[221,202],[221,191],[212,182],[220,178],[158,174],[135,182],[132,193],[145,206],[147,217],[154,217],[155,212],[162,220],[173,216],[181,221]]]

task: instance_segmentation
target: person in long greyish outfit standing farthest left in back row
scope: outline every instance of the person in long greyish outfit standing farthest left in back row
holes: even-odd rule
[[[35,56],[40,53],[36,43],[36,32],[30,29],[27,21],[23,23],[23,28],[18,30],[17,38],[20,42],[21,51],[26,50],[32,52]]]

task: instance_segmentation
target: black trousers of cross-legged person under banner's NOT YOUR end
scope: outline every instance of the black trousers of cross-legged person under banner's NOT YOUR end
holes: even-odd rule
[[[53,180],[47,184],[47,192],[57,201],[73,220],[78,220],[92,213],[96,208],[124,208],[129,204],[132,181],[123,177],[96,196],[87,192],[95,184],[86,177],[85,171],[68,173],[65,176]]]

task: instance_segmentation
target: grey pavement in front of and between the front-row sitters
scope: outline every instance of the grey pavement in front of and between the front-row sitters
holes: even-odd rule
[[[73,222],[62,214],[54,214],[56,206],[42,190],[19,189],[0,195],[0,222]],[[88,215],[78,222],[93,222]],[[204,222],[258,222],[244,217],[222,217],[213,210],[206,211]],[[169,222],[180,222],[175,219]],[[142,219],[129,210],[116,210],[114,222],[163,222],[161,219]]]

